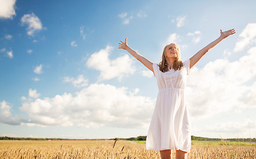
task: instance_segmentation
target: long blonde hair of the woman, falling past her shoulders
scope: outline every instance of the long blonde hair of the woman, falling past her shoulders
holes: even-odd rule
[[[174,43],[172,43],[172,44],[174,44]],[[168,70],[169,70],[168,67],[170,67],[168,65],[168,62],[167,62],[167,59],[166,59],[166,48],[167,48],[167,46],[169,46],[169,45],[166,45],[164,47],[164,52],[162,54],[162,62],[160,62],[158,64],[159,70],[162,71],[162,72],[168,72]],[[182,57],[181,57],[181,54],[180,54],[180,48],[178,48],[177,58],[176,58],[176,60],[174,60],[174,65],[172,66],[172,68],[174,68],[175,71],[176,70],[182,70],[182,68],[183,68]]]

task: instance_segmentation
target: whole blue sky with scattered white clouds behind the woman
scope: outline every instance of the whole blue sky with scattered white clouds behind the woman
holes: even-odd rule
[[[255,1],[0,2],[0,136],[146,135],[156,79],[118,42],[154,63],[176,42],[191,58],[192,135],[256,137]]]

